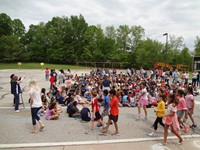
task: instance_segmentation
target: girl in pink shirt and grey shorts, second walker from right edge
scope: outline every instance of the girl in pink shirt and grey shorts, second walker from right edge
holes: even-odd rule
[[[179,89],[176,92],[176,97],[179,100],[179,103],[177,105],[177,117],[178,117],[178,122],[180,125],[182,125],[184,127],[184,132],[187,133],[189,130],[189,126],[185,125],[182,121],[183,115],[185,115],[184,118],[187,118],[187,107],[186,107],[186,101],[184,98],[184,92],[183,90]],[[182,127],[181,126],[181,127]]]

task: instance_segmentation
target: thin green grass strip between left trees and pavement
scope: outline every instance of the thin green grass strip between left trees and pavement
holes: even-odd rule
[[[0,69],[87,69],[83,66],[75,65],[60,65],[60,64],[44,64],[41,66],[40,63],[21,63],[19,66],[18,63],[0,63]]]

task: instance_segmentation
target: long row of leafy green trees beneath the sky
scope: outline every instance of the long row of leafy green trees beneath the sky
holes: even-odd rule
[[[150,69],[154,62],[191,65],[192,56],[183,37],[170,36],[167,43],[147,38],[140,25],[88,25],[82,15],[53,17],[31,24],[28,31],[20,19],[0,14],[1,62],[120,62],[127,67]],[[200,55],[197,36],[194,54]]]

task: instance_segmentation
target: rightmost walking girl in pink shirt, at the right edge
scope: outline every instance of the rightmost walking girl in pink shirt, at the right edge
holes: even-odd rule
[[[186,92],[187,92],[187,95],[185,96],[185,101],[186,101],[186,106],[187,106],[187,115],[186,115],[186,118],[188,118],[188,115],[192,121],[192,125],[190,126],[191,128],[195,128],[197,127],[197,125],[195,124],[194,122],[194,118],[192,116],[192,114],[194,113],[194,96],[193,96],[193,88],[192,86],[188,86],[186,88]]]

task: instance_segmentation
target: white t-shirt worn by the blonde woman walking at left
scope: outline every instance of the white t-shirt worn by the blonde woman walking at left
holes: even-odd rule
[[[29,94],[33,95],[33,104],[32,104],[32,108],[39,108],[42,106],[42,100],[41,100],[41,96],[40,96],[40,89],[33,89],[31,88],[29,91]]]

